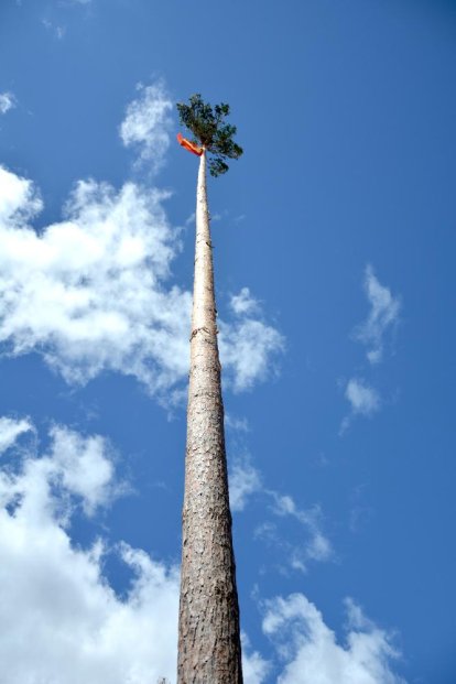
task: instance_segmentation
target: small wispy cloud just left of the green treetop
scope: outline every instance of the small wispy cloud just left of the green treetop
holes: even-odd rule
[[[127,107],[120,126],[120,137],[126,146],[133,146],[142,162],[158,171],[170,146],[173,104],[164,84],[138,86],[139,97]]]

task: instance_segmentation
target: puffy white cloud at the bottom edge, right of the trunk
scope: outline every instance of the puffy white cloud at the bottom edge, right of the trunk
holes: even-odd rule
[[[284,661],[278,684],[404,684],[391,669],[399,658],[392,636],[347,602],[345,644],[302,594],[267,602],[263,631]]]

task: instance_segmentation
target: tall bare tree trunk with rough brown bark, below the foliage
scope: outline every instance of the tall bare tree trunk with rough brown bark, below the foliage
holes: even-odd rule
[[[242,684],[205,152],[196,194],[177,683]]]

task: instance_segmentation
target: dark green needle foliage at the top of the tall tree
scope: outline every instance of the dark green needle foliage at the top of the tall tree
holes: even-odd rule
[[[236,126],[225,123],[229,115],[229,105],[220,102],[214,108],[204,102],[199,93],[192,95],[189,104],[177,102],[181,123],[194,135],[193,142],[206,148],[209,172],[219,176],[228,171],[226,159],[239,159],[242,148],[234,140]]]

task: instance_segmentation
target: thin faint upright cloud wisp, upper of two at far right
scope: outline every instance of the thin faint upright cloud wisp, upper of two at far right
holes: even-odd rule
[[[365,291],[371,308],[365,323],[355,329],[355,339],[369,347],[369,361],[379,363],[383,356],[383,337],[398,323],[401,305],[399,297],[380,284],[370,264],[366,267]]]

